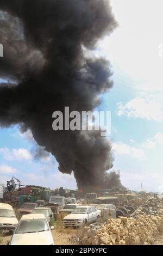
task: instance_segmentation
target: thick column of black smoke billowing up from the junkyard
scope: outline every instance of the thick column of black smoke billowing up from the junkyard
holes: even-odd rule
[[[78,187],[122,186],[112,168],[111,143],[100,131],[53,131],[52,113],[89,111],[112,87],[110,64],[86,56],[117,26],[105,0],[1,0],[1,126],[23,125],[55,156]]]

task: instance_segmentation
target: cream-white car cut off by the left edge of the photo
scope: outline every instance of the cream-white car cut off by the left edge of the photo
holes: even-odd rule
[[[0,230],[14,230],[17,223],[18,220],[12,206],[0,203]]]

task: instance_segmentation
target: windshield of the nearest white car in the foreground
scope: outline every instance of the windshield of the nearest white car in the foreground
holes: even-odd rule
[[[45,219],[22,220],[17,225],[15,234],[36,233],[49,230]]]

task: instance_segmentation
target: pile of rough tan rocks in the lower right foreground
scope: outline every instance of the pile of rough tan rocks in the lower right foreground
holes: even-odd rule
[[[85,228],[78,239],[80,245],[151,245],[162,227],[159,216],[109,219],[100,227]]]

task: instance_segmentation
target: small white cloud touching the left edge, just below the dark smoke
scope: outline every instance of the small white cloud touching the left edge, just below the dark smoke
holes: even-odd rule
[[[3,154],[4,158],[9,161],[17,160],[31,160],[32,155],[27,149],[8,149],[1,148],[0,153]]]

